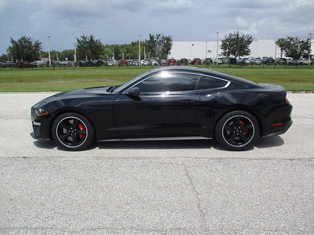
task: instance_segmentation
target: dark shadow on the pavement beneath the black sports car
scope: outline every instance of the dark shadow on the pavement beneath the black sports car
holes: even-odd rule
[[[54,141],[34,141],[34,145],[38,148],[64,150],[58,147]],[[246,150],[250,151],[254,148],[271,148],[283,145],[285,141],[280,136],[260,138],[254,144],[254,147]],[[210,149],[228,151],[219,145],[217,141],[212,140],[181,140],[181,141],[105,141],[94,142],[83,151],[91,149]],[[64,150],[67,151],[67,150]]]

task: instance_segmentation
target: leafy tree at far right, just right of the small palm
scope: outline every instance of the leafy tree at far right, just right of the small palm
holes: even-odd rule
[[[285,53],[288,57],[292,57],[295,60],[302,57],[303,54],[310,52],[311,41],[310,39],[300,40],[298,37],[287,37],[287,46],[285,47]]]

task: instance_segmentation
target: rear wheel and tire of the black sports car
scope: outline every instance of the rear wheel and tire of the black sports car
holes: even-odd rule
[[[226,149],[243,151],[251,148],[260,136],[257,119],[244,111],[233,111],[220,118],[215,139]]]

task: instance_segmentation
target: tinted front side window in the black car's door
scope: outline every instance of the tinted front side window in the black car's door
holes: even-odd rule
[[[188,73],[162,73],[150,77],[136,87],[142,92],[181,92],[194,91],[199,75]]]

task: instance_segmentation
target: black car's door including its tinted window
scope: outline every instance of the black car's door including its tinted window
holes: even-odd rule
[[[161,72],[133,85],[113,101],[117,135],[121,137],[170,137],[189,135],[197,116],[200,98],[199,75]]]

